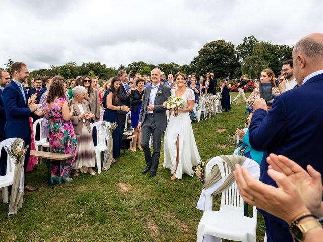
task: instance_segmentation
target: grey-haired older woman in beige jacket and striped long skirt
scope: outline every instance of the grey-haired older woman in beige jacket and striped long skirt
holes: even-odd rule
[[[74,112],[71,118],[74,133],[76,135],[77,150],[72,168],[72,175],[77,176],[81,173],[95,175],[92,167],[95,166],[94,144],[92,140],[91,119],[94,114],[90,112],[89,104],[84,99],[87,96],[85,87],[76,86],[72,90],[73,98],[70,101]]]

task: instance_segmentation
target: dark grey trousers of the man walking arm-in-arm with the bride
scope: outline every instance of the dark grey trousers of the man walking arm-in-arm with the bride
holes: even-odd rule
[[[161,138],[164,130],[158,130],[153,115],[146,114],[145,120],[141,126],[141,147],[145,153],[145,161],[151,166],[151,171],[156,172],[159,165]],[[149,149],[150,137],[153,137],[153,153]]]

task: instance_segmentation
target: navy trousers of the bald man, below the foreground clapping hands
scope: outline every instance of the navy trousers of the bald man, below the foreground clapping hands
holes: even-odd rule
[[[266,225],[267,242],[293,242],[287,223],[282,224],[268,215],[264,215],[264,223]]]

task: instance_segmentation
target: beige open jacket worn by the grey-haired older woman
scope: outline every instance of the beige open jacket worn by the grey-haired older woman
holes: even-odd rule
[[[83,125],[86,125],[88,131],[91,133],[90,120],[85,119],[85,122],[83,122],[82,119],[79,120],[77,118],[77,116],[81,115],[81,111],[80,111],[79,107],[77,106],[77,103],[74,100],[74,97],[69,102],[74,108],[74,112],[73,112],[73,116],[71,117],[71,121],[72,121],[72,124],[73,124],[75,134],[76,135],[82,135]],[[82,107],[83,107],[84,112],[90,111],[89,103],[86,100],[83,100]]]

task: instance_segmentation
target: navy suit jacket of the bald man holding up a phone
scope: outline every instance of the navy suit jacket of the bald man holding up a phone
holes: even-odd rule
[[[268,113],[254,111],[249,127],[249,141],[258,151],[265,151],[260,165],[260,180],[276,186],[268,174],[266,157],[284,155],[303,169],[311,164],[323,173],[321,146],[323,134],[323,74],[304,85],[276,96]]]

